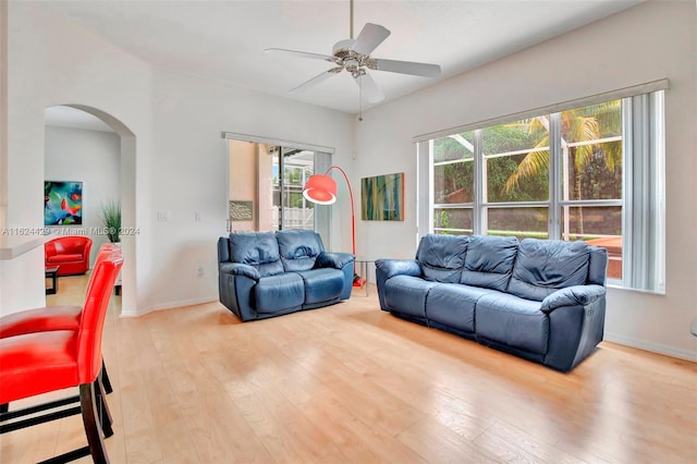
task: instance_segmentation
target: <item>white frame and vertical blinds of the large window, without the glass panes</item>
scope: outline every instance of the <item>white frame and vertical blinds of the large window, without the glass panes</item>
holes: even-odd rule
[[[562,219],[575,207],[622,208],[622,261],[621,279],[608,279],[610,286],[649,293],[665,293],[665,127],[664,90],[668,80],[655,81],[615,91],[566,101],[546,108],[496,118],[479,123],[429,133],[414,138],[417,152],[419,202],[417,203],[418,237],[426,233],[462,232],[486,234],[487,218],[491,208],[548,208],[548,237],[564,240]],[[590,105],[622,100],[623,118],[623,185],[622,198],[563,199],[562,195],[562,134],[561,112]],[[547,202],[489,203],[486,192],[485,155],[481,150],[481,133],[487,127],[523,119],[549,114],[549,198]],[[474,136],[474,188],[473,200],[458,204],[436,204],[433,194],[433,142],[440,137],[473,131]],[[615,138],[616,139],[616,138]],[[448,162],[448,161],[444,161]],[[464,162],[464,161],[463,161]],[[648,174],[647,174],[648,173]],[[650,195],[637,194],[650,191]],[[648,198],[647,198],[648,196]],[[435,228],[436,209],[467,208],[473,210],[473,231]],[[564,211],[566,210],[566,215]],[[641,211],[650,211],[643,213]],[[649,217],[650,216],[650,217]],[[639,228],[637,230],[637,228]],[[568,231],[568,229],[566,229]],[[568,236],[566,235],[566,239]]]

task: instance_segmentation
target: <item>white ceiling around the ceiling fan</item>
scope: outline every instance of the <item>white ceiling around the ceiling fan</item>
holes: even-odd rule
[[[380,24],[391,36],[374,58],[440,64],[431,80],[371,71],[389,101],[527,48],[643,0],[355,0],[354,29]],[[348,38],[350,1],[47,1],[155,66],[358,112],[358,87],[341,73],[301,95],[288,91],[332,63],[272,56],[265,48],[331,54]],[[378,103],[380,105],[380,103]],[[375,105],[372,105],[375,106]],[[367,101],[363,109],[370,108]]]

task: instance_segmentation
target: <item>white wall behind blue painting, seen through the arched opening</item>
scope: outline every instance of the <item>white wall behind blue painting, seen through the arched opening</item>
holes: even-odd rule
[[[93,240],[90,262],[102,243],[101,206],[121,200],[121,137],[114,132],[46,126],[44,179],[83,183],[83,223],[49,227],[59,234],[84,234]]]

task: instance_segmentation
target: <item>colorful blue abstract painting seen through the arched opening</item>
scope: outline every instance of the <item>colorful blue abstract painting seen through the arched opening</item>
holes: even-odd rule
[[[44,225],[83,223],[83,183],[44,182]]]

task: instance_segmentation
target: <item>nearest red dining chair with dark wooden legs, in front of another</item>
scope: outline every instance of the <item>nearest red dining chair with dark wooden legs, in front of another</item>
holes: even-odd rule
[[[107,308],[122,265],[121,254],[114,252],[95,266],[77,330],[51,330],[0,339],[0,403],[80,387],[81,405],[73,414],[82,413],[88,445],[57,459],[72,460],[91,454],[95,463],[109,462],[102,434],[109,437],[113,430],[110,420],[100,417],[105,404],[103,394],[97,391],[101,389],[97,378],[102,364],[101,339]],[[65,416],[46,415],[0,425],[0,434]]]

